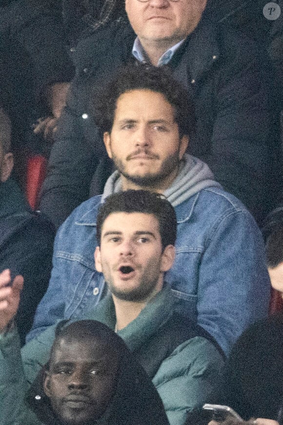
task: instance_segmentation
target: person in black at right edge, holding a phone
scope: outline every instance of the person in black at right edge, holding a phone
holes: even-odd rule
[[[282,297],[283,208],[276,209],[266,217],[263,235],[271,284]],[[244,420],[267,418],[282,425],[282,353],[283,311],[279,311],[268,319],[253,324],[242,334],[231,351],[222,384],[208,403],[228,405]],[[207,422],[207,415],[204,412],[188,415],[187,425],[207,424]],[[232,424],[236,425],[233,421],[229,425]],[[257,424],[261,425],[262,421],[257,421]]]

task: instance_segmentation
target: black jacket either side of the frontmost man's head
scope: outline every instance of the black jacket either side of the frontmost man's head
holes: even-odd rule
[[[44,425],[61,425],[43,391],[44,368],[27,394],[27,403]],[[97,425],[169,425],[153,383],[131,355],[120,363],[116,390]]]

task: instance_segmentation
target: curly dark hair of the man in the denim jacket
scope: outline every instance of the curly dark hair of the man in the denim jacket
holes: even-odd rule
[[[195,127],[194,103],[186,88],[174,79],[168,67],[132,64],[120,68],[116,76],[93,101],[94,117],[102,131],[110,132],[114,122],[117,100],[131,90],[152,90],[161,93],[173,107],[180,136],[191,135]]]

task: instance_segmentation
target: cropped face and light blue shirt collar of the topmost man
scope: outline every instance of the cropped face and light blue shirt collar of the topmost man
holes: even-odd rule
[[[206,0],[126,0],[126,12],[138,35],[133,55],[154,66],[168,64],[201,20]]]

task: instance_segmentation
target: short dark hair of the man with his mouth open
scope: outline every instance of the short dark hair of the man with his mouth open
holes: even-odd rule
[[[159,223],[162,250],[167,245],[175,244],[177,234],[175,210],[170,202],[162,198],[162,195],[142,190],[129,190],[108,196],[101,205],[96,220],[96,237],[99,245],[102,225],[112,212],[142,212],[154,215]]]

